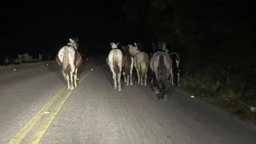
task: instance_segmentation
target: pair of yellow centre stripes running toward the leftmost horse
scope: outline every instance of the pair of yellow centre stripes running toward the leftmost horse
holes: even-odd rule
[[[82,79],[88,76],[90,73],[91,72],[89,72],[88,74],[85,74],[78,83],[80,83]],[[30,142],[32,141],[33,143],[39,142],[40,139],[42,138],[42,135],[45,133],[46,129],[48,128],[48,126],[50,126],[50,122],[54,119],[54,116],[58,114],[58,110],[60,110],[60,108],[62,107],[62,104],[66,101],[66,99],[70,96],[70,94],[73,91],[73,90],[66,90],[65,88],[66,86],[62,87],[62,89],[59,90],[58,93],[55,94],[53,98],[50,98],[50,101],[47,102],[46,105],[43,106],[41,110],[39,110],[38,113],[35,114],[34,117],[31,118],[30,121],[27,122],[26,125],[23,126],[22,129],[19,130],[18,133],[13,138],[10,139],[9,144],[20,143],[22,139],[26,137],[26,134],[28,134],[30,130],[34,127],[34,125],[38,122],[38,120],[42,118],[42,115],[44,114],[43,112],[45,112],[50,108],[50,106],[61,96],[60,94],[62,94],[63,92],[69,91],[64,98],[61,98],[61,100],[58,102],[58,105],[55,106],[54,108],[54,110],[56,109],[55,112],[53,114],[50,114],[49,118],[46,118],[46,121],[42,123],[42,126],[34,134],[33,138],[30,139]]]

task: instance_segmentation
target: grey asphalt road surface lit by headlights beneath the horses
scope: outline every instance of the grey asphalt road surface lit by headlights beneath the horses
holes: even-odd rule
[[[78,88],[66,90],[54,63],[2,72],[0,143],[256,142],[254,125],[177,88],[168,100],[158,100],[150,84],[114,90],[104,58],[89,58],[78,77]]]

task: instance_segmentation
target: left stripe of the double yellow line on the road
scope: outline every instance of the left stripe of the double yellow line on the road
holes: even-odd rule
[[[50,98],[50,101],[46,103],[45,106],[42,106],[41,110],[38,111],[37,114],[34,115],[34,117],[32,117],[30,119],[29,122],[26,123],[25,126],[22,127],[21,130],[18,131],[18,133],[14,136],[14,138],[10,139],[9,144],[13,144],[13,143],[20,143],[22,141],[23,138],[25,138],[26,134],[33,128],[33,126],[38,122],[38,120],[42,117],[42,114],[44,111],[48,110],[50,108],[50,106],[56,101],[56,99],[58,98],[58,95],[62,93],[62,90],[65,89],[65,86],[62,87],[61,90],[58,91],[57,94],[54,95],[53,98]]]

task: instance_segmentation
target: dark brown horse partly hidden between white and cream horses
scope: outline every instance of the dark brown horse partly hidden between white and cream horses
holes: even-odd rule
[[[122,76],[126,85],[133,85],[134,58],[129,52],[129,46],[122,46]]]

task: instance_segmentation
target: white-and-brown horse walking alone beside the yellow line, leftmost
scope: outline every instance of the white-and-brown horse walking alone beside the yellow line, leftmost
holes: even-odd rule
[[[55,59],[58,65],[62,68],[62,74],[67,82],[67,89],[74,90],[74,87],[78,86],[78,67],[82,64],[82,57],[78,52],[78,38],[70,38],[70,42],[58,50]]]

